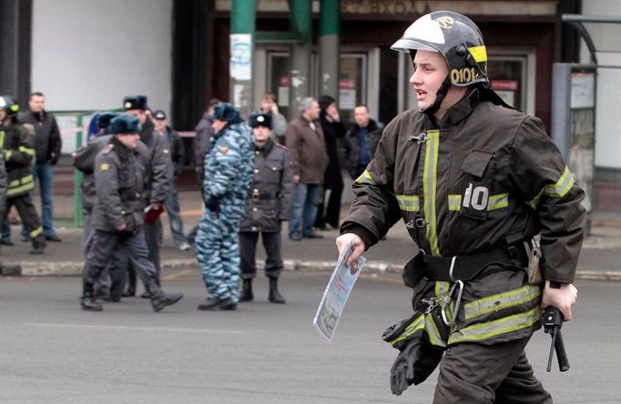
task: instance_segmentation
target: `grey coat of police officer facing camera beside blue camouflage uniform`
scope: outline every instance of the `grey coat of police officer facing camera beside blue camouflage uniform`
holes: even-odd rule
[[[271,139],[255,150],[254,177],[239,231],[280,232],[293,210],[293,174],[287,148]]]

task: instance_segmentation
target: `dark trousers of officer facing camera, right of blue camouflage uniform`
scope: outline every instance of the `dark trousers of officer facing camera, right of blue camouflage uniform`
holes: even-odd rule
[[[263,247],[267,258],[265,259],[265,275],[270,278],[278,278],[282,268],[282,256],[280,246],[282,241],[280,232],[261,232]],[[251,279],[257,276],[257,242],[259,232],[242,231],[239,232],[239,258],[241,268],[241,278]]]

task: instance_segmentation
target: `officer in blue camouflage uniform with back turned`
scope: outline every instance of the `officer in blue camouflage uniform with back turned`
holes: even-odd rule
[[[205,206],[196,237],[197,259],[209,298],[199,310],[235,309],[239,299],[239,222],[254,169],[254,142],[239,111],[214,106],[214,135],[205,158]]]

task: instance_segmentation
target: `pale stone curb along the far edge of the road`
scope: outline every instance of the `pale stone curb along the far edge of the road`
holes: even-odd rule
[[[75,261],[60,262],[6,262],[0,265],[0,276],[3,277],[79,277],[82,275],[84,263]],[[257,269],[263,264],[257,263]],[[197,270],[196,259],[178,258],[162,260],[164,270]],[[302,261],[300,259],[285,259],[284,270],[303,272],[331,272],[334,261]],[[364,266],[365,272],[374,274],[401,274],[402,265],[386,262],[368,261]],[[621,281],[621,271],[577,271],[575,279]]]

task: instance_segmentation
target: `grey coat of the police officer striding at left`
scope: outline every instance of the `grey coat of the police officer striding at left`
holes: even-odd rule
[[[116,232],[115,227],[125,223],[125,231],[134,232],[144,225],[144,167],[137,151],[112,136],[95,159],[95,184],[95,229]]]

